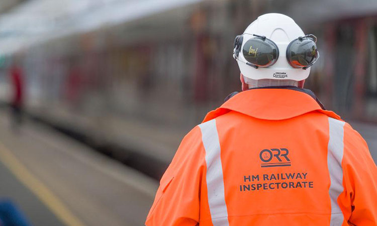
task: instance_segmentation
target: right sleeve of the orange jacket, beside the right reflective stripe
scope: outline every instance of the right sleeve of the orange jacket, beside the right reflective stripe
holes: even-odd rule
[[[377,167],[364,139],[344,126],[343,204],[345,220],[358,226],[377,225]]]

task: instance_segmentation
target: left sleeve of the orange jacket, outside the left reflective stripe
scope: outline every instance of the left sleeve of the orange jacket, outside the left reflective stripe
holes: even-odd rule
[[[160,180],[145,225],[197,225],[205,150],[199,127],[187,134]]]

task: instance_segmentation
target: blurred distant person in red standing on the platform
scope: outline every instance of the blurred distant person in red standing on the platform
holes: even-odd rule
[[[17,63],[11,67],[11,80],[13,86],[13,95],[11,100],[12,106],[12,127],[17,130],[22,123],[22,104],[24,96],[24,80],[21,68]]]

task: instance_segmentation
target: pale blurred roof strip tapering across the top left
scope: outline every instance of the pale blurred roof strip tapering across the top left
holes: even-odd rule
[[[22,0],[1,0],[22,1]],[[0,54],[202,0],[28,0],[0,16]],[[1,10],[1,5],[0,5]]]

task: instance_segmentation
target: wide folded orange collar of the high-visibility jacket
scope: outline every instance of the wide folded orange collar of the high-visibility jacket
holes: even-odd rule
[[[219,108],[210,111],[203,122],[232,110],[263,120],[286,120],[311,111],[319,111],[331,118],[341,120],[334,112],[325,110],[313,95],[312,91],[308,92],[297,87],[249,89],[235,94]]]

